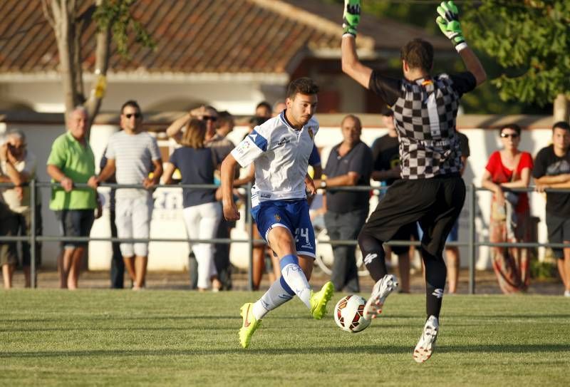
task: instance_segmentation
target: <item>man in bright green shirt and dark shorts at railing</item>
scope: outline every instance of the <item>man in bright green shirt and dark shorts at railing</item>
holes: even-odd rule
[[[86,138],[87,111],[78,106],[67,119],[68,131],[51,145],[47,172],[52,182],[61,187],[51,188],[49,207],[56,212],[64,237],[88,237],[98,207],[97,192],[93,188],[76,188],[76,183],[93,186],[95,156]],[[100,214],[100,211],[98,211]],[[63,240],[63,252],[58,257],[61,289],[77,289],[81,259],[87,242]]]

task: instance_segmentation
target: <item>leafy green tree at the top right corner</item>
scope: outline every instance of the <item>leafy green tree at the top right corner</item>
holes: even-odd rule
[[[483,0],[465,7],[470,42],[504,71],[492,83],[502,100],[545,105],[568,119],[570,96],[570,2]],[[467,5],[467,4],[466,4]],[[556,108],[561,103],[561,108]]]

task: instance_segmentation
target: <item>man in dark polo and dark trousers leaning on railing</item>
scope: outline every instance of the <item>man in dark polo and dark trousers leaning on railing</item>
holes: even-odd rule
[[[326,180],[315,180],[316,187],[328,189],[370,184],[372,151],[361,141],[362,124],[356,115],[347,115],[341,122],[343,141],[328,155],[324,174]],[[326,191],[325,225],[331,239],[355,240],[368,217],[368,191]],[[356,267],[356,246],[333,246],[331,280],[336,291],[361,291]]]

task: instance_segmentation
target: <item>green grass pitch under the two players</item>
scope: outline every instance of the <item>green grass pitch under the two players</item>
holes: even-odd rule
[[[330,314],[312,320],[294,299],[266,316],[244,350],[239,306],[260,295],[5,291],[0,384],[568,385],[570,299],[561,296],[445,296],[437,349],[416,364],[419,294],[390,296],[359,334],[338,329]]]

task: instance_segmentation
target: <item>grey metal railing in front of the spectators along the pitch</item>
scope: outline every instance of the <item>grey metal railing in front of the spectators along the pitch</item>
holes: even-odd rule
[[[37,189],[45,187],[54,187],[56,189],[61,189],[58,183],[52,182],[38,182],[36,180],[31,180],[28,182],[27,186],[30,188],[30,203],[36,203]],[[1,183],[1,187],[14,187],[11,183]],[[76,188],[86,188],[86,184],[76,184]],[[101,184],[100,187],[110,187],[110,188],[144,188],[142,185],[120,185],[120,184]],[[190,189],[216,189],[217,185],[157,185],[154,189],[160,190],[162,188],[190,188]],[[249,198],[249,193],[251,192],[252,185],[246,186],[246,197]],[[375,195],[382,190],[388,190],[388,187],[375,187],[375,186],[356,186],[356,187],[329,187],[327,190],[336,191],[373,191]],[[510,189],[513,192],[534,192],[534,187],[528,188],[514,188]],[[475,185],[467,185],[467,195],[466,200],[469,205],[469,237],[467,242],[448,242],[446,246],[452,247],[468,247],[468,262],[469,262],[469,294],[475,294],[475,257],[477,247],[551,247],[551,248],[563,248],[568,247],[567,244],[553,244],[553,243],[539,243],[539,242],[504,242],[504,243],[494,243],[494,242],[478,242],[477,241],[477,230],[475,228],[475,213],[476,213],[476,194],[478,191],[488,191],[485,188],[475,187]],[[570,193],[570,189],[547,189],[546,192],[563,192]],[[36,205],[30,206],[30,234],[27,236],[3,236],[0,235],[0,242],[28,242],[30,244],[30,256],[31,256],[31,287],[36,287],[36,242],[61,242],[63,240],[70,242],[186,242],[186,243],[214,243],[214,244],[232,244],[232,243],[247,243],[248,253],[249,253],[249,265],[248,265],[248,284],[249,289],[253,289],[253,276],[252,276],[252,262],[253,262],[253,248],[254,243],[264,242],[261,239],[254,239],[253,235],[253,221],[249,213],[246,214],[246,225],[249,231],[249,237],[247,239],[232,239],[232,238],[218,238],[218,239],[190,239],[190,238],[118,238],[118,237],[65,237],[61,235],[37,235],[36,234]],[[1,221],[1,220],[0,220]],[[353,245],[356,246],[358,242],[356,240],[317,240],[317,243],[331,244],[331,245]],[[388,246],[420,246],[419,241],[410,240],[393,240],[387,242]]]

